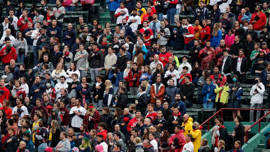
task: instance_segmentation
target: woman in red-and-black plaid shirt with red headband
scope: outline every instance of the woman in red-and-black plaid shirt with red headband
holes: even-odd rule
[[[88,126],[88,130],[98,129],[98,123],[100,122],[100,113],[94,108],[93,103],[89,103],[88,110],[83,118],[83,124]]]

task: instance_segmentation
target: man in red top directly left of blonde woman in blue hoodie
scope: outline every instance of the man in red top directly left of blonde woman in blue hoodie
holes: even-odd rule
[[[210,40],[210,37],[211,37],[211,29],[210,27],[207,25],[207,20],[206,19],[203,19],[202,20],[202,29],[201,29],[201,32],[200,32],[200,44],[202,47],[205,46],[205,43],[206,41]]]

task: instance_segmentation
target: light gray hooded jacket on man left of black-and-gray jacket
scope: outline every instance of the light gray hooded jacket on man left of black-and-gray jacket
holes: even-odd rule
[[[79,57],[80,55],[85,55],[85,58],[80,58]],[[88,53],[86,50],[83,50],[82,52],[79,51],[75,54],[74,61],[77,62],[77,69],[78,70],[85,70],[85,68],[88,69],[89,62],[88,62],[87,58],[88,58]]]

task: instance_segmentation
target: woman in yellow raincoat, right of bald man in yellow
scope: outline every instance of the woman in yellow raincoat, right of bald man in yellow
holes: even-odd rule
[[[194,146],[194,152],[197,152],[201,145],[202,132],[200,124],[198,122],[193,122],[192,128],[195,129],[190,130],[189,133],[192,135],[192,138],[194,139],[194,141],[192,141]]]

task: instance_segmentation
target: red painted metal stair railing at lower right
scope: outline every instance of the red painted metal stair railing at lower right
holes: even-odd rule
[[[261,120],[263,119],[263,118],[265,118],[268,114],[270,114],[270,109],[248,109],[248,108],[221,108],[219,111],[217,111],[216,113],[214,113],[211,117],[209,117],[207,120],[205,120],[205,122],[203,122],[202,124],[201,124],[201,126],[202,125],[205,125],[207,122],[208,122],[208,131],[210,130],[210,120],[215,116],[215,115],[217,115],[217,114],[219,114],[219,113],[221,113],[221,117],[223,118],[223,110],[259,110],[259,111],[269,111],[267,114],[265,114],[263,117],[261,117],[261,119],[259,119],[258,121],[256,121],[253,125],[251,125],[247,130],[245,130],[245,132],[246,132],[246,142],[247,142],[247,135],[248,135],[248,130],[250,129],[250,128],[252,128],[253,126],[255,126],[257,123],[259,123],[259,131],[258,132],[260,132],[260,130],[261,130]],[[256,115],[256,114],[255,114]]]

